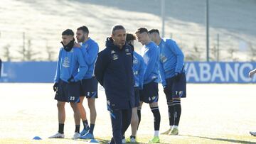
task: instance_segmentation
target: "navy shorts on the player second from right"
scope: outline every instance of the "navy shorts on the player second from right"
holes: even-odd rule
[[[158,83],[152,81],[143,85],[142,94],[139,94],[139,100],[151,104],[159,99]]]

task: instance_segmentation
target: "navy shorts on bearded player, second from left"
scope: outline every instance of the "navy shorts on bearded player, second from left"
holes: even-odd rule
[[[90,79],[82,79],[80,84],[80,96],[87,98],[97,98],[97,79],[92,77]]]

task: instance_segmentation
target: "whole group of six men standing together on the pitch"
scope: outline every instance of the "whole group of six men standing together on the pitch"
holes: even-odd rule
[[[89,37],[89,30],[81,26],[74,32],[63,31],[53,90],[58,101],[58,133],[49,138],[64,138],[65,103],[74,111],[73,138],[94,139],[96,120],[95,99],[97,83],[105,88],[107,109],[112,123],[110,143],[137,143],[142,104],[149,104],[154,116],[154,137],[149,143],[160,143],[158,83],[161,82],[169,110],[169,128],[162,134],[178,135],[181,117],[181,98],[186,97],[184,56],[174,40],[161,38],[157,29],[138,28],[127,33],[124,26],[112,27],[106,48]],[[141,55],[134,51],[134,40],[142,43]],[[90,109],[90,125],[82,105],[85,96]],[[80,133],[80,119],[83,129]],[[131,125],[132,135],[125,138]]]

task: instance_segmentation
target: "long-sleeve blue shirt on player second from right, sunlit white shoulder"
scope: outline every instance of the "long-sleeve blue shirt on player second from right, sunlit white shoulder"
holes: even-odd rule
[[[159,82],[159,50],[154,42],[150,42],[142,48],[142,57],[146,64],[144,84]]]

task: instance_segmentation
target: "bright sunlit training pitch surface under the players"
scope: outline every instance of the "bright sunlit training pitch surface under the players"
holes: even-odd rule
[[[58,131],[53,84],[0,84],[0,143],[85,143],[72,140],[73,111],[66,104],[65,139],[48,139]],[[107,143],[112,135],[105,92],[96,100],[95,137]],[[159,85],[160,131],[169,128],[166,99]],[[84,101],[86,111],[87,101]],[[179,134],[160,135],[161,143],[256,143],[249,131],[256,131],[255,84],[188,84],[187,98],[181,100]],[[87,114],[87,116],[90,116]],[[142,106],[137,137],[146,143],[154,135],[153,115]],[[82,126],[80,130],[82,129]],[[130,128],[126,136],[130,135]],[[40,136],[43,140],[32,140]]]

